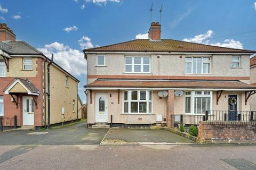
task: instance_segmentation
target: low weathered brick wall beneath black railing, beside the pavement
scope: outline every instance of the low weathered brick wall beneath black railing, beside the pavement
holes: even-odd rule
[[[198,140],[201,142],[253,142],[256,122],[199,122]]]

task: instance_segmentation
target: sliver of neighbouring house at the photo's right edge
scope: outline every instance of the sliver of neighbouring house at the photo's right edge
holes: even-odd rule
[[[256,54],[250,59],[250,83],[256,86]],[[256,111],[256,95],[250,98],[250,106],[252,111]]]

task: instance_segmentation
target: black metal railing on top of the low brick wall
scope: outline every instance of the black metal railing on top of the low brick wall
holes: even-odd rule
[[[256,111],[206,111],[205,121],[255,122]]]

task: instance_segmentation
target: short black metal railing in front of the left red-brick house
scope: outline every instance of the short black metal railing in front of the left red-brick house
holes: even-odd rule
[[[0,132],[9,129],[17,128],[17,116],[13,117],[0,117]]]

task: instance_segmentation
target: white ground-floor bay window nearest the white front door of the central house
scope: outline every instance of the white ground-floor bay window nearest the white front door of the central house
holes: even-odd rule
[[[123,113],[153,113],[153,92],[149,90],[126,90],[123,93]]]

